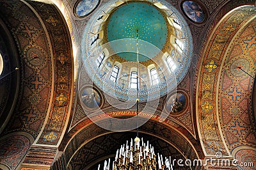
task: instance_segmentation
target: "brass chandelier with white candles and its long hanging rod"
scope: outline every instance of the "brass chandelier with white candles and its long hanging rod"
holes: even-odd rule
[[[138,125],[138,64],[139,64],[139,51],[138,51],[138,29],[136,29],[136,47],[137,47],[137,99],[136,99],[136,113],[137,113],[137,125]],[[116,151],[115,161],[113,161],[112,169],[110,167],[110,158],[105,160],[103,170],[173,170],[172,164],[170,164],[169,159],[165,157],[163,162],[163,155],[157,155],[154,152],[154,146],[151,144],[144,143],[143,138],[138,137],[139,130],[137,126],[137,137],[132,140],[130,145],[128,141],[121,146],[119,150]],[[134,141],[134,142],[133,142]],[[141,144],[140,144],[141,143]],[[98,166],[100,170],[100,164]]]

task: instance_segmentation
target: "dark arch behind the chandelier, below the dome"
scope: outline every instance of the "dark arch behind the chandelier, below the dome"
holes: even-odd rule
[[[100,121],[104,123],[110,123],[108,118],[102,119]],[[143,121],[143,118],[140,118],[140,121]],[[116,137],[113,137],[113,139],[115,139],[115,142],[112,143],[113,141],[111,140],[111,136],[115,136],[115,134],[117,134]],[[125,137],[125,135],[128,135],[128,137]],[[170,149],[170,152],[168,152],[168,149],[165,150],[164,147],[159,150],[159,152],[161,152],[162,150],[163,152],[164,150],[167,151],[165,152],[167,154],[165,155],[166,157],[169,157],[170,155],[172,156],[172,151],[174,150],[174,155],[179,155],[179,157],[182,156],[183,158],[189,158],[191,160],[200,159],[203,157],[200,146],[192,144],[195,143],[193,139],[190,141],[190,139],[180,134],[177,130],[175,130],[175,128],[168,127],[167,125],[164,125],[159,121],[148,120],[147,123],[139,128],[139,135],[140,137],[143,137],[145,135],[145,139],[148,139],[149,142],[150,140],[155,142],[159,141],[159,143],[163,143],[165,144],[165,146],[172,148]],[[79,166],[84,166],[83,168],[85,168],[86,165],[88,166],[89,164],[90,166],[95,166],[101,160],[115,155],[117,148],[119,148],[121,144],[126,143],[127,140],[131,141],[131,137],[136,137],[135,130],[130,130],[127,132],[110,132],[104,128],[98,127],[94,123],[87,125],[79,132],[74,134],[72,139],[70,139],[70,141],[68,142],[67,147],[64,149],[65,156],[63,160],[66,161],[64,164],[68,165],[76,164],[75,162],[80,162]],[[94,140],[95,143],[93,143]],[[97,143],[104,143],[105,146],[97,146]],[[86,152],[88,153],[88,157],[86,157],[86,155],[83,155],[83,150],[85,151],[86,148],[92,148],[92,146],[95,146],[96,148],[98,147],[97,150],[99,149],[100,151],[93,151],[94,149],[92,149],[91,151]],[[83,157],[81,156],[81,154],[83,155]],[[88,162],[83,159],[88,159]],[[83,162],[86,163],[82,165]],[[191,168],[198,169],[199,167],[195,166]]]

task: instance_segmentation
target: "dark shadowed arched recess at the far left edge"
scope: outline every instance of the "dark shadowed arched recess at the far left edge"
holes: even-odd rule
[[[8,27],[0,19],[0,134],[12,116],[19,93],[20,72],[17,47]]]

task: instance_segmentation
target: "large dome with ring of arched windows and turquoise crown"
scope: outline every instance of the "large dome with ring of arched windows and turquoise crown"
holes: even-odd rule
[[[138,74],[140,101],[156,100],[188,72],[191,33],[180,13],[161,2],[109,1],[88,21],[82,40],[84,70],[109,96],[135,101]]]

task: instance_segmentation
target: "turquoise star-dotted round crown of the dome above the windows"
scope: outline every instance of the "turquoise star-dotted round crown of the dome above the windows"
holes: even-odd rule
[[[168,34],[163,15],[154,5],[139,1],[129,2],[117,8],[108,20],[108,41],[120,40],[111,45],[120,58],[127,61],[137,60],[134,39],[137,37],[137,29],[139,61],[147,61],[158,54],[159,50],[150,47],[149,43],[163,49]]]

